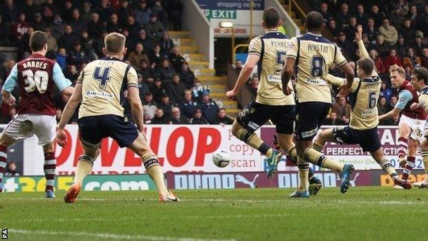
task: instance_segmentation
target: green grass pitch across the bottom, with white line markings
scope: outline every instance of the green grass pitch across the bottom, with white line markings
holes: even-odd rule
[[[82,192],[77,203],[1,193],[9,240],[425,240],[428,190],[353,187],[290,199],[291,189]]]

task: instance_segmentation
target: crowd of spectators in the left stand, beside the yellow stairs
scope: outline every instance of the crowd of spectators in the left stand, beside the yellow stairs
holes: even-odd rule
[[[19,47],[17,60],[21,60],[31,54],[29,36],[36,30],[46,32],[47,57],[56,60],[64,76],[75,83],[88,62],[104,57],[104,36],[119,32],[127,38],[124,61],[138,73],[147,124],[231,124],[169,38],[168,30],[181,30],[182,9],[180,0],[5,0],[0,5],[0,46]],[[16,62],[0,53],[0,63],[3,84]],[[17,89],[13,94],[19,100]],[[132,119],[126,95],[124,91],[123,107]],[[57,90],[54,98],[59,120],[67,97]],[[15,114],[16,106],[1,105],[1,123]]]

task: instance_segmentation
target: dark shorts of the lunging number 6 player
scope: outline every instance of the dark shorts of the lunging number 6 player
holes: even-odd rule
[[[349,126],[333,128],[333,137],[340,144],[359,144],[365,152],[375,152],[381,148],[377,127],[369,130],[355,130]]]

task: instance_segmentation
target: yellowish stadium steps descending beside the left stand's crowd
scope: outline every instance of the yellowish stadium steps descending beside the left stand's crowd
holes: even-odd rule
[[[226,108],[226,113],[230,117],[237,117],[239,113],[238,103],[226,99],[226,76],[215,76],[215,69],[209,69],[209,62],[205,61],[204,54],[199,53],[199,46],[191,38],[189,31],[169,31],[169,37],[176,45],[180,46],[182,56],[189,62],[189,67],[195,73],[202,84],[210,87],[210,96],[219,104]]]

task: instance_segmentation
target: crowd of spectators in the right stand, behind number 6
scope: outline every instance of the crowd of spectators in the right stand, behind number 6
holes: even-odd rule
[[[354,68],[359,58],[355,32],[357,25],[363,26],[364,44],[383,82],[377,105],[379,115],[394,108],[397,101],[389,76],[392,65],[403,67],[407,80],[415,67],[428,68],[428,1],[308,1],[324,16],[326,29]],[[337,69],[331,71],[341,74]],[[329,115],[325,124],[348,124],[349,104],[342,99],[333,102],[331,113],[334,114]],[[390,119],[381,124],[394,125],[397,121]]]

